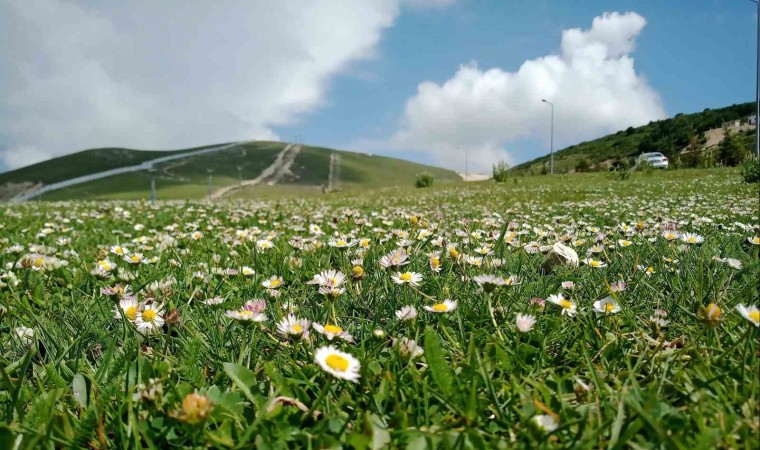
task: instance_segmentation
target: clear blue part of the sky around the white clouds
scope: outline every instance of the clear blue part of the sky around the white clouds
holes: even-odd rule
[[[327,106],[296,126],[275,130],[285,139],[303,135],[308,143],[361,150],[362,138],[383,139],[397,128],[404,101],[421,81],[443,82],[471,60],[482,68],[514,71],[525,60],[557,53],[563,29],[588,28],[605,11],[635,11],[646,18],[633,57],[668,116],[752,101],[754,8],[749,1],[727,0],[464,0],[410,11],[385,34],[377,58],[331,83]],[[547,145],[528,139],[511,148],[519,162],[547,153]],[[415,156],[435,163],[432,154]]]

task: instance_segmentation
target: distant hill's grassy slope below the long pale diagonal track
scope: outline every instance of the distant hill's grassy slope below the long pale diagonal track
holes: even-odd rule
[[[239,176],[244,180],[256,178],[275,161],[284,146],[280,142],[245,143],[218,153],[170,161],[157,166],[158,170],[154,173],[141,171],[115,175],[59,189],[44,194],[41,199],[147,199],[150,195],[151,177],[155,177],[157,197],[160,199],[203,198],[208,194],[208,169],[213,171],[212,190],[235,185],[239,183]],[[437,167],[395,158],[304,146],[290,168],[291,174],[285,176],[280,184],[245,188],[239,192],[234,191],[231,197],[319,195],[320,187],[327,183],[332,153],[340,155],[338,186],[341,189],[411,186],[416,175],[423,171],[432,173],[436,183],[461,180],[453,171]]]

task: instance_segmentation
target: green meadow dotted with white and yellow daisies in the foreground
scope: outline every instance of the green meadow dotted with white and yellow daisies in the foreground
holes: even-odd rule
[[[731,170],[0,208],[0,448],[757,448]]]

